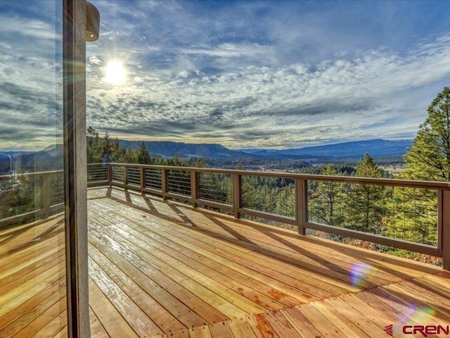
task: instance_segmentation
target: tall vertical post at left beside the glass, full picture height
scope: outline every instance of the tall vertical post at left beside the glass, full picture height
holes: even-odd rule
[[[86,161],[86,1],[63,4],[63,139],[68,337],[90,337]]]

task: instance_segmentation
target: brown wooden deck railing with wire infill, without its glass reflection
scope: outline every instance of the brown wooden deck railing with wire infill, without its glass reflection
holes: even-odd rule
[[[391,246],[397,249],[416,251],[432,256],[442,257],[444,269],[450,270],[450,183],[415,180],[394,180],[385,178],[349,177],[330,175],[304,175],[295,173],[274,173],[248,170],[226,170],[212,168],[186,168],[160,165],[136,165],[124,163],[105,163],[89,165],[88,186],[105,185],[122,187],[124,189],[153,194],[163,200],[174,199],[184,201],[194,207],[214,208],[218,211],[233,214],[236,218],[243,215],[285,223],[297,228],[300,234],[307,229],[319,230],[344,237],[361,239],[376,244]],[[261,196],[250,196],[248,191],[257,179],[271,180],[278,184],[278,196],[287,196],[292,189],[293,199],[281,201],[287,206],[278,208],[274,213],[271,205],[280,201],[266,201],[267,210],[255,208],[252,200]],[[327,185],[328,184],[328,185]],[[345,224],[326,224],[326,218],[309,212],[309,204],[317,204],[323,199],[330,206],[333,201],[319,196],[318,187],[339,189],[340,198],[351,199],[357,194],[380,194],[378,204],[371,205],[367,215],[375,208],[392,209],[396,215],[384,211],[383,217],[377,221],[380,232],[373,229],[365,231],[364,227],[356,225],[347,227]],[[312,189],[315,187],[315,189]],[[377,188],[378,187],[378,188]],[[357,189],[356,189],[357,188]],[[378,189],[378,190],[377,190]],[[314,190],[314,194],[312,193]],[[338,196],[338,195],[336,195]],[[335,197],[336,197],[335,196]],[[361,196],[363,199],[364,196]],[[380,202],[382,201],[382,202]],[[371,201],[368,201],[371,203]],[[262,205],[262,204],[259,204]],[[347,210],[342,211],[342,208]],[[361,206],[340,201],[340,210],[335,210],[335,218],[339,215],[363,214]],[[401,214],[399,216],[399,214]],[[346,220],[349,218],[347,217]],[[346,221],[344,220],[344,221]],[[329,223],[338,223],[334,220]],[[401,224],[401,226],[399,225]],[[416,236],[411,235],[414,227]],[[389,231],[385,231],[385,230]],[[366,229],[367,230],[367,229]],[[409,233],[408,240],[404,234]],[[412,238],[416,240],[411,241]]]

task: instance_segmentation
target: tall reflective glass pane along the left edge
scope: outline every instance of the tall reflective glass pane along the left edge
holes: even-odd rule
[[[0,337],[67,335],[61,1],[0,1]]]

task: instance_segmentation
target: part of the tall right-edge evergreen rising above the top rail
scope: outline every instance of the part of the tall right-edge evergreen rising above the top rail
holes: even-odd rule
[[[450,89],[445,87],[428,107],[413,146],[405,155],[408,168],[402,177],[450,181]]]

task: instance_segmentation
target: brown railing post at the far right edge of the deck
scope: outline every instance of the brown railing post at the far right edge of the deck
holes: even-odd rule
[[[438,194],[440,197],[438,227],[441,234],[438,240],[439,246],[442,247],[442,268],[450,271],[450,190],[440,190]]]

